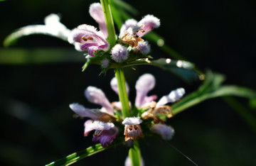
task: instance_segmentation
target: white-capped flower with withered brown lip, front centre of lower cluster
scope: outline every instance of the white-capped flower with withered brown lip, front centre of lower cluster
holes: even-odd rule
[[[144,137],[142,133],[142,128],[139,125],[139,123],[142,123],[142,120],[138,117],[124,118],[124,121],[122,121],[122,124],[125,125],[124,126],[125,141],[129,139],[137,140],[139,138]]]

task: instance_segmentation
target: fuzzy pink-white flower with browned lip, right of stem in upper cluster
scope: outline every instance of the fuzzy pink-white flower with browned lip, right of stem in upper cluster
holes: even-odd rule
[[[129,44],[132,48],[137,47],[139,42],[143,42],[142,36],[149,33],[154,28],[160,26],[159,18],[146,15],[141,21],[134,19],[125,21],[120,29],[119,38],[122,43]]]

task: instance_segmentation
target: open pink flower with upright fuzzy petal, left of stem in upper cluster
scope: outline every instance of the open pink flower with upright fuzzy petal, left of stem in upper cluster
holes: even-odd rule
[[[68,41],[74,45],[80,45],[81,50],[87,50],[89,55],[94,56],[97,50],[107,51],[110,47],[107,43],[107,28],[105,18],[100,3],[91,4],[90,16],[100,25],[100,31],[94,26],[82,24],[71,31]]]

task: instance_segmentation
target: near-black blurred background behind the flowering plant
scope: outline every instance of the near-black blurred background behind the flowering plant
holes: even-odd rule
[[[0,2],[0,41],[16,28],[42,24],[49,13],[60,13],[68,28],[87,23],[97,26],[88,8],[93,1],[20,0]],[[225,74],[226,84],[255,88],[256,6],[255,1],[129,1],[139,15],[147,13],[161,19],[155,32],[165,42],[201,70]],[[73,45],[49,36],[22,38],[11,48],[35,52],[57,48],[73,50]],[[168,57],[152,44],[153,57]],[[73,50],[70,56],[78,56]],[[82,55],[80,55],[81,58]],[[110,70],[100,77],[100,67],[90,66],[81,72],[83,62],[46,63],[40,65],[6,65],[0,63],[0,163],[1,165],[46,165],[70,153],[93,145],[91,135],[83,137],[85,120],[73,118],[68,105],[79,102],[97,108],[83,96],[93,85],[103,89],[110,101],[118,97],[110,89]],[[150,72],[156,87],[150,94],[161,97],[172,89],[196,90],[200,82],[187,84],[156,67],[126,70],[130,100],[134,101],[134,84],[139,75]],[[247,99],[238,99],[250,109]],[[211,99],[193,106],[167,122],[176,135],[171,140],[182,153],[198,165],[255,165],[255,133],[222,99]],[[156,138],[141,140],[146,165],[193,165],[174,148]],[[123,165],[127,148],[118,146],[87,157],[75,165]]]

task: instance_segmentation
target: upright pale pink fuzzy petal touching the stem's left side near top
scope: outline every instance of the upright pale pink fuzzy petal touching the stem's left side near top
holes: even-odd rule
[[[99,24],[100,31],[104,34],[105,38],[107,38],[107,27],[105,23],[104,13],[102,10],[102,5],[100,3],[93,3],[90,5],[89,9],[90,16]]]

